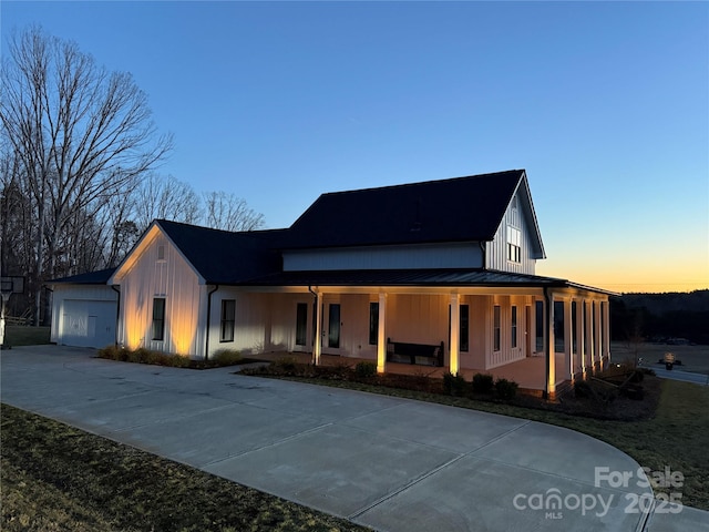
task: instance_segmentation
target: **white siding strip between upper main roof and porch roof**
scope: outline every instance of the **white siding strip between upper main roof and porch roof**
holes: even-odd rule
[[[285,272],[481,267],[483,254],[476,242],[284,252]]]

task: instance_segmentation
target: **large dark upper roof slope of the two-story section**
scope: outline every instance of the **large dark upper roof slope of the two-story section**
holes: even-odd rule
[[[290,227],[288,247],[494,238],[524,170],[322,194]]]

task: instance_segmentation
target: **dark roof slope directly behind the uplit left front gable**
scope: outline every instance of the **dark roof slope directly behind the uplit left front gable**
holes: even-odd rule
[[[156,223],[208,284],[236,284],[281,269],[277,248],[287,229],[232,233],[166,219]]]

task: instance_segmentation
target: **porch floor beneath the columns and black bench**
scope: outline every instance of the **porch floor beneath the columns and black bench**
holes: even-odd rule
[[[265,352],[258,355],[264,360],[277,360],[281,357],[294,357],[299,362],[309,364],[312,361],[312,354],[309,352]],[[568,361],[563,352],[556,354],[556,385],[561,385],[566,380],[571,380],[567,369]],[[357,362],[367,361],[376,362],[370,358],[340,357],[337,355],[321,355],[320,364],[322,366],[348,365],[354,366]],[[433,367],[411,364],[387,362],[387,372],[394,375],[423,375],[433,378],[443,378],[443,375],[450,371],[449,366]],[[544,390],[546,380],[546,360],[544,357],[527,357],[522,360],[506,364],[492,369],[461,368],[460,374],[470,381],[475,374],[490,374],[495,379],[514,380],[520,388],[527,390]]]

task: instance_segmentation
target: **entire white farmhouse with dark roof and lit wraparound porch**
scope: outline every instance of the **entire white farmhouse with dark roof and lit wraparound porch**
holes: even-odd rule
[[[66,309],[112,300],[115,338],[96,346],[195,358],[305,351],[316,364],[370,359],[380,372],[392,362],[493,371],[542,357],[536,387],[554,393],[609,359],[610,294],[535,275],[543,258],[524,170],[323,194],[287,229],[158,219],[101,298],[81,276],[54,283],[52,335],[74,341]]]

